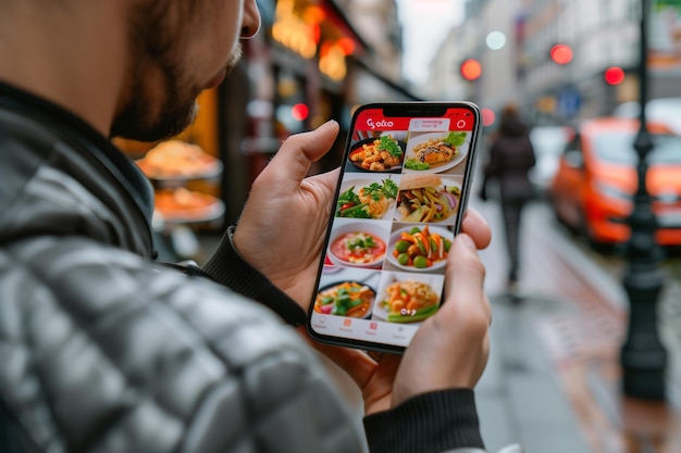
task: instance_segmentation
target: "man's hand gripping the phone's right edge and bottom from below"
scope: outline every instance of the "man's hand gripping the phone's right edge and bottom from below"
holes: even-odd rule
[[[475,211],[469,211],[462,231],[447,259],[446,301],[423,323],[404,356],[379,354],[374,360],[358,350],[313,343],[357,382],[367,415],[430,391],[472,389],[482,376],[492,309],[483,289],[485,268],[475,249],[488,244],[490,228]]]

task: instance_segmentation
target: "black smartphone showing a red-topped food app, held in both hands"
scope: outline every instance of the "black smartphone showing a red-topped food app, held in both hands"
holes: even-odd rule
[[[481,123],[463,101],[355,111],[308,314],[314,340],[401,353],[437,312]]]

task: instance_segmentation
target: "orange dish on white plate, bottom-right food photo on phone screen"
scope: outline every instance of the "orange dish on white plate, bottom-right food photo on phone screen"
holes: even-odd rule
[[[439,306],[439,293],[420,280],[389,284],[376,304],[380,317],[388,323],[418,323],[434,315]]]

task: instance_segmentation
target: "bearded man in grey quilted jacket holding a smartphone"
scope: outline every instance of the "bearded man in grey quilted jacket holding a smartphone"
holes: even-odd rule
[[[259,26],[255,0],[0,0],[1,451],[483,448],[478,213],[403,357],[314,345],[359,386],[366,440],[286,326],[311,299],[337,174],[304,176],[334,122],[286,140],[203,269],[154,263],[151,191],[109,138],[181,131]]]

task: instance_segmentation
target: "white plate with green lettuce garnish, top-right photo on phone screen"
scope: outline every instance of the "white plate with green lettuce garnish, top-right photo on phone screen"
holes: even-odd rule
[[[412,134],[405,152],[405,173],[441,173],[457,166],[468,154],[468,133]]]

